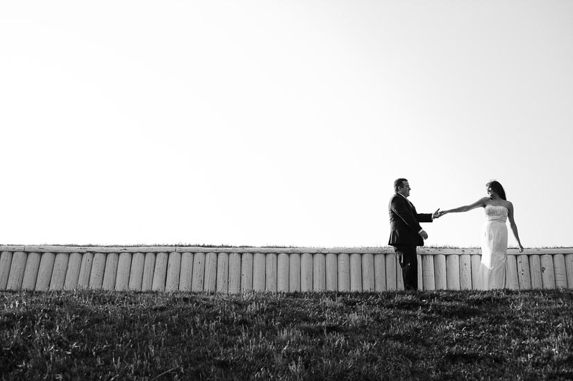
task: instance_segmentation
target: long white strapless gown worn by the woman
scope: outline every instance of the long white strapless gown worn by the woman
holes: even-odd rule
[[[485,223],[481,233],[481,264],[476,289],[506,287],[507,214],[501,205],[485,206]]]

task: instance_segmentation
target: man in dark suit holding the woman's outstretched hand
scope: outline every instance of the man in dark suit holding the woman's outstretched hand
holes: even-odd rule
[[[433,214],[418,214],[414,205],[408,201],[410,196],[410,184],[405,178],[399,178],[394,182],[395,195],[388,203],[390,214],[390,240],[388,244],[394,246],[402,269],[404,289],[418,288],[418,260],[416,246],[424,246],[424,239],[428,233],[422,229],[420,222],[432,222],[440,217],[436,210]]]

